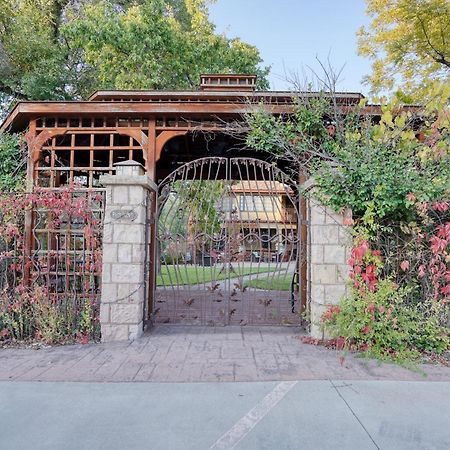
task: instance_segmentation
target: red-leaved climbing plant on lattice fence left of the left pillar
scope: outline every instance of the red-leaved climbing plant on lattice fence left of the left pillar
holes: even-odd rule
[[[0,343],[99,338],[102,191],[0,195]]]

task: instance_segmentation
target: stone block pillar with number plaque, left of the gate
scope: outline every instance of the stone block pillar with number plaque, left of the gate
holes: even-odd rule
[[[144,329],[147,196],[154,189],[136,161],[103,175],[106,188],[100,303],[102,342],[133,340]]]

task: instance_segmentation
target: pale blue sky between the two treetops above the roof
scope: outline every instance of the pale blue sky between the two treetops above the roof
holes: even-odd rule
[[[367,93],[370,62],[356,53],[356,31],[366,25],[364,0],[218,0],[210,8],[217,32],[256,45],[271,65],[272,89],[287,89],[285,69],[318,70],[315,57],[344,70],[340,90]]]

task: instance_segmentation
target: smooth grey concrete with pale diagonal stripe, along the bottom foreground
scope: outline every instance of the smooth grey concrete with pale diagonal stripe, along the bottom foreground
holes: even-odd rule
[[[450,383],[0,383],[0,449],[447,450]]]

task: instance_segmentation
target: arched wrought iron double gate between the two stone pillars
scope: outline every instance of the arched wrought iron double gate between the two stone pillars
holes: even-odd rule
[[[304,259],[296,184],[252,158],[202,158],[158,187],[152,319],[298,324]]]

